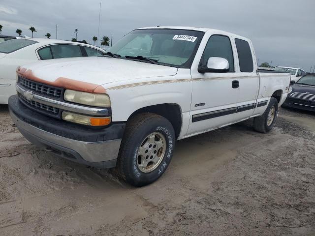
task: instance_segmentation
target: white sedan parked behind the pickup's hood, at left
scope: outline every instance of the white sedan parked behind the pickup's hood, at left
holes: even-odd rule
[[[38,60],[90,57],[105,53],[98,47],[63,40],[28,38],[0,43],[0,103],[7,104],[16,94],[16,70],[19,66]]]

